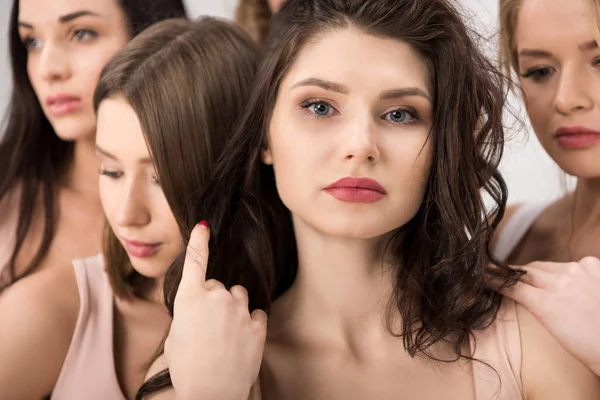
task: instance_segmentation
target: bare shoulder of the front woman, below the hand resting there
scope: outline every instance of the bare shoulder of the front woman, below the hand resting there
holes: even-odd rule
[[[517,305],[524,398],[600,399],[600,378],[569,354],[525,308]]]

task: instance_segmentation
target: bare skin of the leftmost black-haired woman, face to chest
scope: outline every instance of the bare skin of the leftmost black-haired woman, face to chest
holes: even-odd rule
[[[60,18],[89,11],[61,22]],[[117,0],[21,0],[19,35],[27,47],[27,74],[45,115],[56,134],[75,142],[73,162],[56,182],[59,219],[52,245],[38,270],[69,265],[100,251],[103,214],[98,194],[98,161],[94,154],[96,119],[92,97],[100,72],[130,38],[129,25]],[[55,115],[46,104],[49,96],[69,94],[81,98],[79,108]],[[15,190],[0,204],[0,236],[12,237],[16,229],[19,193]],[[43,235],[43,204],[36,204],[33,224],[20,251],[20,275],[32,260]],[[0,245],[0,262],[12,244]]]

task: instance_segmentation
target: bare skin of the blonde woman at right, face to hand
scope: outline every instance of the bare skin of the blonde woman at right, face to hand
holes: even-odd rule
[[[509,256],[509,263],[527,264],[530,276],[503,293],[600,375],[600,262],[585,258],[600,257],[600,143],[567,149],[554,137],[564,126],[600,131],[596,35],[584,0],[523,2],[515,41],[527,112],[540,143],[577,177],[577,187],[542,212]]]

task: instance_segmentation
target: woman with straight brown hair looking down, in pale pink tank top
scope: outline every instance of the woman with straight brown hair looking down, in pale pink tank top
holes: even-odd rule
[[[94,95],[104,254],[0,297],[3,399],[135,395],[170,323],[164,274],[197,221],[189,205],[245,104],[256,58],[232,23],[176,19],[107,65]]]

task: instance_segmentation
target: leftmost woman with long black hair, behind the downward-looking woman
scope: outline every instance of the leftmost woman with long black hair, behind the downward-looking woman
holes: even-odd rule
[[[100,250],[98,77],[133,36],[185,15],[182,0],[13,1],[13,92],[0,133],[0,293]]]

